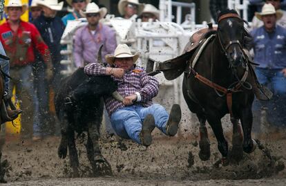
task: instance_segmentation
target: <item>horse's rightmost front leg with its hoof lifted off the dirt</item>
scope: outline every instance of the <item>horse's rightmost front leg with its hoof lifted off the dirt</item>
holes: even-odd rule
[[[251,129],[252,129],[251,105],[247,106],[245,109],[242,109],[240,120],[244,135],[243,151],[245,151],[246,153],[251,153],[256,149],[256,141],[251,138]]]

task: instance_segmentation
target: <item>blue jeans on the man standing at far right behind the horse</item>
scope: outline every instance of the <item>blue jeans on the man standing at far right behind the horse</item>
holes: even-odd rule
[[[269,101],[255,101],[254,113],[262,107],[267,108],[267,119],[271,124],[283,126],[286,124],[286,78],[282,69],[256,68],[256,75],[260,84],[267,86],[273,93]],[[257,116],[260,118],[260,116]]]

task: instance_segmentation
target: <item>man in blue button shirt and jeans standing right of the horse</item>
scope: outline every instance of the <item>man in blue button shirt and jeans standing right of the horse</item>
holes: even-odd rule
[[[268,102],[256,102],[254,111],[267,107],[267,119],[271,124],[286,124],[286,28],[276,24],[282,12],[275,10],[271,3],[265,4],[256,17],[263,26],[252,30],[254,38],[254,62],[258,63],[256,75],[260,84],[268,86],[274,96]],[[259,117],[260,118],[260,117]]]

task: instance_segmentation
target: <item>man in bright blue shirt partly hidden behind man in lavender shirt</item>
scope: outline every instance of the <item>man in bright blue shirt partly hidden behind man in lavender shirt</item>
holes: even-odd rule
[[[88,3],[90,3],[90,0],[66,0],[68,3],[68,6],[72,7],[68,15],[65,15],[61,20],[64,22],[64,25],[68,24],[68,20],[74,20],[84,17],[82,15],[82,11],[86,9],[86,6]]]

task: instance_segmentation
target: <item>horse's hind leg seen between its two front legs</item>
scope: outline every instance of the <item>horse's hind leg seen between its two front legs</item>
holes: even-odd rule
[[[233,125],[233,136],[232,136],[232,149],[231,149],[231,159],[240,161],[243,157],[242,149],[242,129],[238,118],[231,118],[231,123]]]

